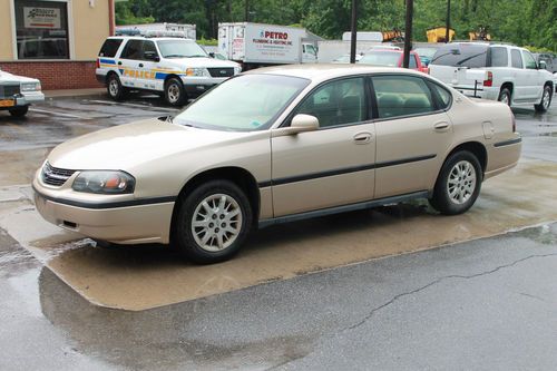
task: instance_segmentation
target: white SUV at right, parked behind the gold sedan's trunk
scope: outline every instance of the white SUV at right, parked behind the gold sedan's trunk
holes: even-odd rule
[[[524,48],[504,43],[451,42],[439,48],[430,75],[471,97],[546,111],[554,77]]]

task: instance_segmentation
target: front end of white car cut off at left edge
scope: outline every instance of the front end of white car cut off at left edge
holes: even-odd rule
[[[38,79],[17,76],[0,69],[0,110],[8,110],[11,116],[22,117],[33,102],[43,101]]]

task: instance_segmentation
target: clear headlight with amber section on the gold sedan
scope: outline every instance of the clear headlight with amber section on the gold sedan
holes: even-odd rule
[[[99,194],[134,193],[136,179],[124,172],[81,172],[71,188],[77,192]]]

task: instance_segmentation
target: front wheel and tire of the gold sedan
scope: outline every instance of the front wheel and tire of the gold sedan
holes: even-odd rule
[[[228,180],[209,180],[178,203],[173,240],[183,256],[212,264],[238,252],[253,217],[250,202],[238,186]]]

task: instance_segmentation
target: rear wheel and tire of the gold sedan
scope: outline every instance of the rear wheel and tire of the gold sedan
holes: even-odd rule
[[[478,198],[482,179],[478,158],[468,150],[457,152],[441,167],[429,203],[441,214],[462,214]]]

